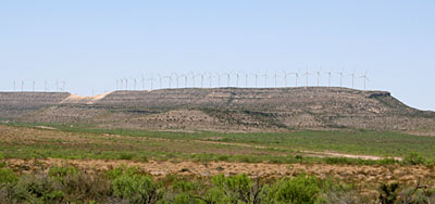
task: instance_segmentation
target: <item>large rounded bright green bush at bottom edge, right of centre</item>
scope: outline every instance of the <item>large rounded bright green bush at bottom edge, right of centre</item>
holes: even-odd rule
[[[269,190],[268,200],[271,203],[312,204],[319,200],[320,192],[318,178],[300,175],[275,183]]]

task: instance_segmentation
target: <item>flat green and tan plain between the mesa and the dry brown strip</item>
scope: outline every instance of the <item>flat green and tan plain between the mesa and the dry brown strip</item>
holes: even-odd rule
[[[55,130],[32,128],[38,126]],[[391,131],[163,132],[53,124],[9,124],[2,126],[1,131],[2,153],[7,157],[21,158],[325,162],[325,158],[306,155],[306,151],[385,157],[417,154],[427,161],[435,158],[435,138]],[[300,155],[303,155],[302,160]]]

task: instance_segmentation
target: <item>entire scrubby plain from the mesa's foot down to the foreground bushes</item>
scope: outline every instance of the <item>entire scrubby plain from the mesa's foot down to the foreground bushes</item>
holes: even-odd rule
[[[434,144],[432,137],[390,131],[222,133],[5,124],[0,125],[0,203],[144,203],[147,193],[158,193],[151,203],[208,203],[213,197],[226,197],[214,203],[252,203],[235,192],[261,192],[261,203],[279,203],[290,193],[284,192],[286,188],[304,192],[307,184],[315,189],[310,195],[313,203],[371,203],[381,201],[383,193],[396,193],[398,200],[408,193],[424,203],[435,196]],[[403,161],[332,157],[322,152]],[[142,171],[120,171],[126,166]],[[417,181],[427,189],[409,194]],[[227,191],[226,184],[237,182],[248,188]],[[395,188],[396,182],[400,188],[395,192],[382,189]],[[283,188],[284,195],[271,188]]]

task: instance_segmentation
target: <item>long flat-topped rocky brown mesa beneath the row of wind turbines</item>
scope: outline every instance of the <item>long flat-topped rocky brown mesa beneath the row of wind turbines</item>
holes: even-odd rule
[[[412,131],[435,127],[435,113],[409,107],[389,92],[346,88],[164,89],[115,91],[96,98],[38,93],[40,95],[33,100],[27,99],[28,95],[12,94],[15,95],[0,94],[0,104],[18,107],[22,102],[16,100],[35,104],[27,104],[32,109],[24,109],[27,111],[16,115],[1,106],[2,117],[13,116],[13,119],[24,122],[86,123],[104,128]],[[3,101],[3,98],[8,99]]]

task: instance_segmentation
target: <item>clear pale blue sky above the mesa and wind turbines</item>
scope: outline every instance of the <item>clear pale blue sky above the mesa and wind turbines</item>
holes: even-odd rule
[[[0,91],[82,95],[160,88],[159,75],[195,73],[196,87],[340,86],[390,91],[406,104],[435,111],[435,1],[433,0],[2,0]],[[284,72],[283,72],[284,71]],[[264,74],[268,82],[264,85]],[[172,75],[172,88],[176,75]],[[226,85],[221,76],[221,86]],[[15,81],[15,82],[14,82]],[[192,85],[189,75],[187,86]],[[287,76],[287,86],[295,86]],[[117,85],[116,85],[117,84]],[[167,88],[169,78],[162,78]]]

